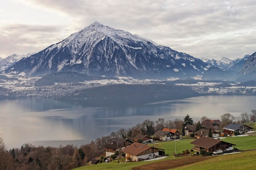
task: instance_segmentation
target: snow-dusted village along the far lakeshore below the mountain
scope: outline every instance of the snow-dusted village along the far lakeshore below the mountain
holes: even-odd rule
[[[1,96],[7,97],[63,97],[74,93],[74,91],[85,88],[92,88],[97,86],[106,86],[112,84],[153,84],[165,83],[159,80],[144,79],[138,80],[132,77],[119,77],[119,79],[103,79],[84,81],[79,83],[55,83],[51,86],[34,86],[35,82],[41,77],[31,77],[24,75],[2,75],[0,77]],[[191,86],[195,92],[201,94],[247,94],[254,95],[256,87],[244,86],[239,84],[228,84],[228,86],[221,86],[221,82],[200,82],[193,81],[190,83],[175,83],[177,86]]]

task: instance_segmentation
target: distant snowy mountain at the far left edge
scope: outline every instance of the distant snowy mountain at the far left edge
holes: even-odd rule
[[[12,66],[13,64],[18,62],[23,57],[29,57],[30,55],[31,54],[27,54],[27,55],[13,54],[13,55],[10,55],[10,56],[0,60],[0,71],[4,71],[6,68]]]

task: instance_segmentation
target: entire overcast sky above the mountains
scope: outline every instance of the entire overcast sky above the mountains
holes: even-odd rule
[[[255,0],[5,0],[0,57],[39,52],[93,22],[193,57],[256,52]]]

